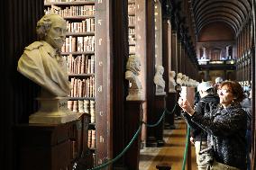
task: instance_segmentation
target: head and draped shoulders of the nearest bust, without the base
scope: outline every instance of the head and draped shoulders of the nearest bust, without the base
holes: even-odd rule
[[[71,90],[67,63],[60,57],[67,26],[58,14],[46,14],[36,27],[38,41],[23,51],[18,71],[41,85],[42,96],[68,96]]]

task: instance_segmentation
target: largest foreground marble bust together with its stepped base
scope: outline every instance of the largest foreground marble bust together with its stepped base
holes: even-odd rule
[[[60,56],[66,39],[66,21],[58,14],[46,14],[37,22],[38,40],[27,46],[18,61],[17,70],[41,86],[39,112],[30,123],[64,123],[77,119],[67,107],[71,91],[67,63]]]

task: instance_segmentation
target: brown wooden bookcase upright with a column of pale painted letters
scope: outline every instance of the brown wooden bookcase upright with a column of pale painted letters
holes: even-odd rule
[[[96,1],[96,166],[112,157],[112,13]]]

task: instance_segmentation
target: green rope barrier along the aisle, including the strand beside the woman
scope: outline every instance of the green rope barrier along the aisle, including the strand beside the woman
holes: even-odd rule
[[[132,146],[134,140],[138,137],[140,131],[142,130],[142,124],[145,124],[147,127],[155,127],[155,126],[159,125],[159,124],[160,124],[160,121],[162,121],[162,119],[164,118],[165,113],[172,114],[172,113],[175,111],[176,106],[177,106],[177,104],[174,105],[174,108],[172,109],[171,112],[169,112],[167,109],[165,109],[164,112],[162,113],[162,115],[160,116],[160,120],[157,121],[155,124],[148,124],[148,123],[146,123],[146,122],[144,122],[144,121],[141,121],[140,126],[139,126],[139,129],[135,132],[135,134],[134,134],[134,136],[133,136],[133,139],[129,142],[129,144],[123,149],[123,151],[122,151],[118,156],[114,157],[114,159],[111,159],[111,160],[107,161],[105,164],[102,164],[102,165],[100,165],[100,166],[96,166],[96,167],[93,167],[93,168],[87,169],[87,170],[102,169],[102,168],[104,168],[105,166],[109,166],[110,164],[113,164],[113,163],[114,163],[116,160],[118,160],[120,157],[123,157],[123,154]],[[187,140],[189,140],[189,132],[188,132],[188,130],[189,130],[189,128],[187,128],[187,134],[188,134],[188,135],[187,135],[187,136],[188,136],[188,137],[187,137],[187,138],[188,138]],[[187,144],[188,144],[188,143],[186,143],[185,153],[184,153],[184,157],[183,157],[183,166],[184,166],[184,167],[182,166],[182,170],[185,170],[184,168],[185,168],[186,160],[184,160],[184,159],[186,159],[186,157],[187,157]],[[76,166],[76,164],[74,164],[72,170],[75,170],[76,168],[77,168],[77,166]]]

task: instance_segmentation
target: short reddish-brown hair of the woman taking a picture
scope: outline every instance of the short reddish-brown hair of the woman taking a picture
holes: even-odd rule
[[[224,85],[228,86],[228,88],[231,90],[231,93],[234,96],[233,102],[242,102],[242,99],[244,98],[244,94],[242,91],[242,86],[236,82],[236,81],[224,81],[221,83],[219,88],[222,88]]]

